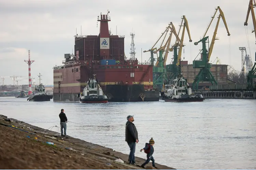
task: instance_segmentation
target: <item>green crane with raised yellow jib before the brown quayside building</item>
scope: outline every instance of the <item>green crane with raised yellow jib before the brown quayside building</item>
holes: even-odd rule
[[[209,36],[205,36],[205,35],[207,34],[217,11],[219,11],[217,24],[216,24],[216,27],[215,27],[215,30],[214,30],[214,33],[213,33],[213,36],[212,36],[211,45],[209,47],[209,50],[207,50],[206,45],[207,45],[207,43],[209,44]],[[210,71],[210,69],[212,67],[212,64],[209,63],[209,61],[210,61],[210,57],[211,57],[211,54],[212,54],[212,51],[213,51],[214,42],[215,42],[216,39],[218,39],[216,37],[216,34],[217,34],[218,26],[219,26],[219,21],[220,21],[221,18],[224,22],[224,25],[225,25],[225,28],[227,30],[228,36],[230,36],[224,13],[221,10],[221,8],[218,6],[217,8],[215,8],[214,15],[212,16],[212,19],[211,19],[207,29],[205,30],[205,32],[203,34],[203,38],[194,43],[195,45],[198,45],[198,43],[202,43],[201,60],[194,60],[193,61],[193,68],[200,68],[200,71],[199,71],[198,75],[196,76],[196,78],[193,82],[193,89],[195,89],[195,90],[198,89],[199,82],[211,82],[212,85],[213,85],[213,83],[216,84],[216,85],[218,84],[217,81],[215,80],[215,78],[213,77],[211,71]],[[207,40],[208,40],[208,42],[207,42]]]

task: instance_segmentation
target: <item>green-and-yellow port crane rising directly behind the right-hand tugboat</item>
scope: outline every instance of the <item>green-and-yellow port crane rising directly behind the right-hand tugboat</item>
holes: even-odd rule
[[[181,39],[180,40],[176,39],[175,44],[170,48],[170,51],[173,51],[173,63],[166,66],[169,72],[169,76],[168,76],[169,80],[175,79],[177,74],[179,73],[179,65],[181,61],[182,48],[184,47],[183,41],[184,41],[185,29],[187,30],[187,33],[188,33],[189,42],[192,42],[187,18],[185,15],[183,15],[181,19],[182,20],[181,20],[179,32],[177,34],[179,37],[181,27],[183,27]],[[178,52],[178,48],[179,48],[179,52]]]

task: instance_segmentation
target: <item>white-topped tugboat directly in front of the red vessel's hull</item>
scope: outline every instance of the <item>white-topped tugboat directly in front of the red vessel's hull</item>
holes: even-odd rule
[[[89,79],[83,93],[77,95],[82,103],[108,103],[109,101],[108,97],[103,95],[103,91],[98,81],[96,81],[95,75],[93,74],[93,78]]]

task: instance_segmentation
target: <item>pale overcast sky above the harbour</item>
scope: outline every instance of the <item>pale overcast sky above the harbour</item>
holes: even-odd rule
[[[72,53],[75,29],[80,34],[98,35],[97,16],[110,10],[109,29],[113,34],[125,35],[125,54],[130,56],[130,32],[135,33],[136,57],[141,61],[142,50],[150,49],[169,22],[179,28],[181,16],[185,15],[192,43],[185,33],[182,58],[192,63],[201,49],[200,40],[210,22],[214,9],[220,6],[224,12],[230,36],[227,36],[223,21],[220,21],[211,61],[219,57],[221,64],[232,65],[241,70],[241,51],[246,47],[254,63],[255,36],[250,13],[248,26],[244,21],[249,0],[0,0],[0,76],[6,77],[4,84],[13,84],[10,76],[21,76],[19,84],[28,84],[28,59],[30,49],[31,74],[38,82],[53,84],[53,67],[61,65],[64,53]],[[218,15],[219,13],[217,13]],[[210,40],[216,26],[217,16],[208,31]],[[248,31],[248,39],[246,37]],[[249,44],[247,43],[249,41]],[[175,38],[172,40],[174,44]],[[250,47],[250,50],[249,50]],[[167,63],[171,62],[169,53]],[[150,53],[142,54],[147,61]],[[215,61],[216,62],[216,61]],[[2,80],[0,81],[2,84]]]

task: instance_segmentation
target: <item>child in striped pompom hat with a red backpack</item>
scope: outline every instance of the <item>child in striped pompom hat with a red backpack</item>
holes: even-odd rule
[[[154,153],[154,144],[155,144],[155,141],[153,140],[153,138],[150,139],[149,143],[146,143],[145,144],[145,147],[143,149],[141,149],[140,151],[143,151],[147,154],[147,160],[146,162],[144,162],[144,164],[141,165],[142,168],[145,169],[145,165],[148,164],[150,162],[150,160],[152,160],[152,166],[154,168],[157,168],[155,166],[155,159],[153,158],[153,153]]]

